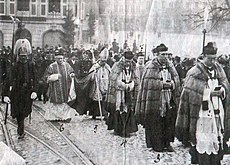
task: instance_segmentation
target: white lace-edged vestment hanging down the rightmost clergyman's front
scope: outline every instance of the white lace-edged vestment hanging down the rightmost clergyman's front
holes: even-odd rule
[[[200,154],[218,154],[220,149],[218,136],[220,136],[221,144],[223,144],[219,117],[215,117],[214,114],[214,107],[216,109],[217,106],[220,110],[220,119],[223,127],[224,109],[222,101],[217,97],[212,99],[213,103],[210,100],[210,92],[215,88],[215,86],[218,86],[218,81],[216,79],[208,80],[208,86],[204,89],[203,93],[203,100],[208,101],[208,110],[202,110],[201,107],[199,111],[199,119],[197,120],[196,149]],[[219,129],[217,129],[217,125]]]

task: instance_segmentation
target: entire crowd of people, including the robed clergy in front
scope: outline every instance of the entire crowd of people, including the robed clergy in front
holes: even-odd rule
[[[11,103],[19,138],[34,99],[52,105],[50,121],[70,122],[71,109],[79,115],[103,119],[108,130],[132,136],[138,124],[146,145],[156,152],[173,152],[175,137],[190,147],[191,162],[220,164],[229,140],[229,56],[218,56],[209,42],[197,58],[173,56],[165,44],[156,46],[153,59],[125,41],[122,49],[37,48],[26,46],[12,55],[1,49],[2,101]],[[13,63],[14,56],[17,56]]]

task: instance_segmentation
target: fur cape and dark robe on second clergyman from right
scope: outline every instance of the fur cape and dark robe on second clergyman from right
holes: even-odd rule
[[[154,150],[162,150],[165,141],[174,140],[174,124],[177,114],[176,90],[180,84],[173,64],[168,62],[167,66],[175,90],[171,92],[171,108],[167,108],[164,117],[161,116],[163,82],[160,72],[162,66],[157,59],[146,64],[137,96],[135,115],[137,121],[145,127],[147,147],[152,147]]]

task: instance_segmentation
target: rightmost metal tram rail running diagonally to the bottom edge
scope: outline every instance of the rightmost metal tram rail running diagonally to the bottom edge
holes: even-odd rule
[[[33,105],[35,108],[37,108],[40,111],[44,111],[42,108],[40,108],[37,105]],[[47,121],[44,117],[44,115],[40,112],[40,111],[36,111],[39,115],[42,116],[42,118],[44,118],[44,120],[46,121],[46,123],[52,127],[54,130],[56,130],[58,132],[58,134],[66,141],[66,143],[71,147],[71,149],[74,151],[74,153],[81,159],[81,161],[85,164],[85,165],[95,165],[92,160],[90,160],[87,156],[85,156],[84,152],[78,148],[67,136],[65,136],[62,132],[60,132],[59,128],[57,128],[53,123],[51,123],[50,121]]]

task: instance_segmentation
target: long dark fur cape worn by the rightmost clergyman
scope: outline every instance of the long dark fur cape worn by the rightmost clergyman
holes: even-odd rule
[[[214,65],[216,78],[219,85],[222,85],[226,91],[225,99],[225,115],[224,115],[224,147],[229,139],[229,83],[224,73],[223,68],[219,64]],[[208,72],[202,63],[197,63],[187,73],[184,88],[180,97],[178,116],[176,120],[176,137],[184,144],[191,142],[197,144],[197,121],[199,119],[200,107],[203,100],[203,92],[208,82]]]

